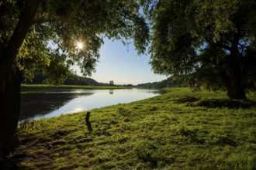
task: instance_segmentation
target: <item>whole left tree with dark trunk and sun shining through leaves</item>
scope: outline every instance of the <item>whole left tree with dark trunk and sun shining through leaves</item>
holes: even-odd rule
[[[105,36],[133,39],[143,53],[148,28],[139,9],[125,0],[0,1],[0,157],[17,145],[22,76],[40,71],[62,83],[74,63],[90,75]]]

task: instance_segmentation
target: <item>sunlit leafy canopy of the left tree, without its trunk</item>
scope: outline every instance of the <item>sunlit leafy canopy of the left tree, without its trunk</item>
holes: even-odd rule
[[[1,1],[0,46],[9,44],[12,33],[29,1]],[[91,75],[99,59],[103,37],[133,39],[139,53],[147,45],[148,29],[135,1],[55,0],[41,1],[19,48],[16,64],[27,78],[42,70],[49,82],[67,77],[69,66],[78,63],[82,73]],[[78,49],[76,42],[84,44]]]

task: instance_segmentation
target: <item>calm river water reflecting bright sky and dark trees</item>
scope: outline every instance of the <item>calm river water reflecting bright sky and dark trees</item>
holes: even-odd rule
[[[84,90],[72,89],[49,93],[23,93],[19,121],[56,117],[113,104],[126,104],[164,93],[162,90],[119,89]]]

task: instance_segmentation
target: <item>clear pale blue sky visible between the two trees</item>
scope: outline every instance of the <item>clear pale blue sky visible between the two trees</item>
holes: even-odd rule
[[[133,44],[124,46],[121,41],[104,39],[96,72],[90,78],[100,83],[113,80],[115,84],[133,85],[165,80],[167,76],[154,74],[149,60],[150,55],[139,56]],[[78,67],[73,69],[81,75]]]

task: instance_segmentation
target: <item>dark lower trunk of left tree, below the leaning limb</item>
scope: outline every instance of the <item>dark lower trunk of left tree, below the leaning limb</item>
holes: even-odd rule
[[[19,145],[16,131],[19,121],[21,78],[19,69],[12,68],[11,73],[5,75],[5,88],[0,89],[0,157],[8,155],[12,148]],[[3,83],[2,80],[0,82]]]

